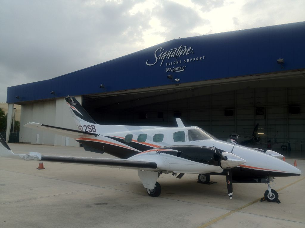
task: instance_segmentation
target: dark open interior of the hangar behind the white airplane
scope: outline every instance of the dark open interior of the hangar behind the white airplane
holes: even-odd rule
[[[83,106],[100,124],[176,126],[175,118],[181,118],[185,126],[199,126],[221,140],[231,133],[251,136],[258,123],[261,141],[252,147],[304,157],[302,77],[87,95]]]

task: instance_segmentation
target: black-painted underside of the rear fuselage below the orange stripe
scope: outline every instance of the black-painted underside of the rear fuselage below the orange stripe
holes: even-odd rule
[[[97,150],[100,150],[101,153],[105,152],[107,154],[111,154],[115,157],[119,158],[124,158],[127,159],[129,157],[132,157],[136,154],[139,154],[140,152],[131,150],[128,148],[120,147],[120,146],[115,146],[107,143],[102,143],[102,142],[95,142],[95,141],[90,141],[90,140],[76,140],[79,143],[85,144],[89,147],[93,147]]]

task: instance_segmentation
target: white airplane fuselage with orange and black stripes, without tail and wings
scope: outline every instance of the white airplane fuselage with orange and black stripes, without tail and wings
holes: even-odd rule
[[[200,128],[194,126],[178,128],[147,127],[147,129],[146,127],[138,126],[138,130],[133,129],[135,126],[124,126],[127,131],[121,132],[117,131],[119,129],[115,129],[122,129],[122,127],[123,126],[114,127],[112,133],[107,132],[102,134],[102,132],[105,131],[105,128],[108,128],[108,126],[95,125],[96,131],[101,133],[99,136],[78,138],[75,140],[82,143],[83,145],[87,144],[90,147],[120,158],[151,161],[153,156],[153,161],[156,161],[157,155],[157,157],[160,157],[160,159],[157,159],[159,162],[156,162],[158,169],[160,170],[174,173],[197,174],[217,174],[222,173],[223,169],[215,164],[204,164],[197,161],[191,161],[177,157],[176,154],[166,154],[166,150],[182,150],[183,152],[183,150],[188,150],[188,147],[196,146],[198,147],[196,153],[200,155],[201,153],[204,154],[205,151],[202,150],[201,152],[199,147],[216,147],[225,152],[231,152],[234,146],[232,143],[216,140],[208,133],[206,133],[207,139],[193,140],[190,138],[191,135],[188,131],[201,130]],[[107,131],[109,130],[107,129]],[[175,134],[181,134],[184,136],[184,138],[175,138]],[[162,139],[158,137],[161,137]],[[267,176],[292,176],[301,173],[299,169],[293,167],[285,161],[244,146],[235,145],[232,154],[235,154],[246,160],[246,163],[232,168],[234,178],[244,178],[249,176],[255,178],[262,178]]]

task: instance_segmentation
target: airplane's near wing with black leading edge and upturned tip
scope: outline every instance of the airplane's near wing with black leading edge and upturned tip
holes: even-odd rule
[[[70,157],[70,156],[45,156],[37,152],[28,154],[14,154],[0,134],[0,156],[22,159],[26,161],[50,161],[60,163],[99,165],[111,168],[125,168],[136,170],[157,171],[157,164],[153,161],[139,161],[120,158],[99,158],[99,157]]]

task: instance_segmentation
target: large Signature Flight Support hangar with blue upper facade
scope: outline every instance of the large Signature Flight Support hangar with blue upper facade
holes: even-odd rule
[[[12,86],[8,116],[19,104],[21,126],[33,121],[76,129],[67,95],[100,124],[175,126],[179,117],[226,140],[231,133],[252,137],[258,123],[260,147],[275,141],[273,150],[305,157],[305,22],[174,39]],[[25,127],[19,141],[79,146]]]

